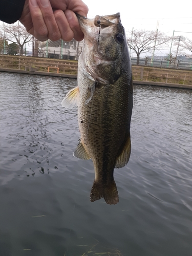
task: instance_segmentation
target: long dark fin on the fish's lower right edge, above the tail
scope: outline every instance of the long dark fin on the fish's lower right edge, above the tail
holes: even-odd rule
[[[117,157],[115,168],[121,168],[125,166],[130,159],[130,155],[131,155],[131,137],[129,133],[126,139],[126,142],[124,144],[124,147],[122,148],[120,155]]]

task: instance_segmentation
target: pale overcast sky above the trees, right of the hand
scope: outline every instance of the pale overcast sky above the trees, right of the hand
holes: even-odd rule
[[[172,36],[192,38],[192,4],[190,0],[83,0],[89,7],[88,17],[120,12],[125,30],[146,29],[165,32]],[[191,32],[191,33],[183,33]]]

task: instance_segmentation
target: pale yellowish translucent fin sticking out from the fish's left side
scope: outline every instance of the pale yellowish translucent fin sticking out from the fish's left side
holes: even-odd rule
[[[70,90],[66,97],[62,100],[61,105],[65,108],[71,109],[78,105],[79,88],[78,86]]]

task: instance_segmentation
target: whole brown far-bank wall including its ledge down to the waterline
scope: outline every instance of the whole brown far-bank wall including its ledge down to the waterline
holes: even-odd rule
[[[0,71],[77,78],[77,61],[0,55]],[[192,70],[133,66],[132,71],[134,84],[192,88]]]

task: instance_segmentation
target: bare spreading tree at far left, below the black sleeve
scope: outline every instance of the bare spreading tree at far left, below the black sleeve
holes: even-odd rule
[[[18,23],[6,24],[5,38],[8,41],[15,42],[19,47],[19,53],[23,54],[24,45],[31,41],[32,35],[26,31],[26,28]]]

